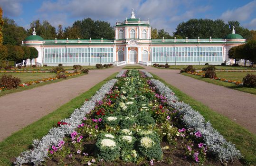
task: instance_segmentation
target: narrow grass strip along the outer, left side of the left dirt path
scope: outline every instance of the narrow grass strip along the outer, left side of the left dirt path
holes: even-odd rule
[[[14,73],[12,73],[14,74]],[[15,73],[17,74],[17,73]],[[24,74],[24,73],[22,73]],[[53,74],[53,73],[52,73]],[[70,76],[70,77],[67,77],[66,79],[64,78],[61,78],[61,79],[57,79],[57,80],[53,80],[53,81],[48,81],[48,82],[45,82],[45,83],[37,83],[37,84],[34,84],[34,85],[29,85],[29,86],[25,86],[25,87],[18,87],[16,89],[11,89],[11,90],[5,90],[5,91],[2,91],[0,92],[0,97],[1,96],[4,96],[6,94],[9,94],[9,93],[14,93],[14,92],[21,92],[21,91],[25,91],[25,90],[28,90],[28,89],[32,89],[32,88],[36,88],[38,86],[43,86],[43,85],[47,85],[47,84],[50,84],[50,83],[57,83],[57,82],[60,82],[60,81],[63,81],[63,80],[67,80],[67,79],[72,79],[72,78],[76,78],[76,77],[80,77],[82,75],[85,75],[84,73],[81,73],[79,75],[75,75],[75,76]]]

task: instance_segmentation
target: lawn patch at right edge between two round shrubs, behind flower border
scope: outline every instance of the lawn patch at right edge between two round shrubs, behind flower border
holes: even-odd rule
[[[256,72],[216,72],[216,74],[220,78],[242,81],[247,74],[256,74]]]

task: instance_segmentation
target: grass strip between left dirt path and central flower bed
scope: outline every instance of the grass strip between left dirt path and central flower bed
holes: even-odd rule
[[[0,166],[10,166],[15,160],[14,157],[18,157],[19,154],[30,148],[33,139],[40,139],[45,136],[49,129],[57,124],[59,120],[68,118],[70,114],[79,108],[85,99],[90,99],[97,90],[101,88],[104,83],[114,78],[116,75],[112,74],[104,81],[96,84],[87,92],[77,96],[66,104],[62,105],[56,111],[44,116],[40,120],[28,125],[27,127],[15,132],[2,142],[0,142]]]

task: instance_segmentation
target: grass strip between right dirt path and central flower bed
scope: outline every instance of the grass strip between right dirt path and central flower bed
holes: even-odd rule
[[[159,79],[166,84],[180,101],[190,104],[190,106],[199,111],[206,121],[210,121],[212,126],[217,129],[228,141],[236,145],[244,158],[242,161],[247,165],[256,165],[256,135],[238,125],[227,117],[215,112],[201,102],[194,100],[189,95],[181,92],[179,89],[166,83],[164,80],[152,74],[155,79]]]

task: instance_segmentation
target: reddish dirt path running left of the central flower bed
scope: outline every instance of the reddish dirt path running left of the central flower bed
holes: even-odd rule
[[[90,70],[87,75],[0,97],[0,141],[55,111],[122,67]]]

